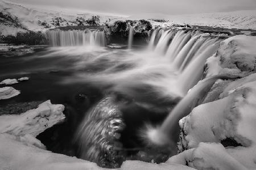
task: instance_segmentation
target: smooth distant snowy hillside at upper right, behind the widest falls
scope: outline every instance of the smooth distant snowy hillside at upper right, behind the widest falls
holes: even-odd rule
[[[189,15],[139,14],[130,19],[163,19],[162,25],[189,24],[210,27],[256,29],[256,10]],[[159,23],[155,23],[159,24]]]

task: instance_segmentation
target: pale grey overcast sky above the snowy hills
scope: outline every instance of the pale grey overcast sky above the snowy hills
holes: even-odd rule
[[[256,0],[11,0],[32,5],[80,8],[95,12],[133,15],[139,13],[196,14],[256,10]]]

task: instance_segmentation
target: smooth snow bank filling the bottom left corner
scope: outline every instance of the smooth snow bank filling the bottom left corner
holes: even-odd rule
[[[34,140],[38,140],[34,138]],[[35,146],[24,145],[18,137],[0,134],[0,169],[104,169],[86,160],[54,154]]]

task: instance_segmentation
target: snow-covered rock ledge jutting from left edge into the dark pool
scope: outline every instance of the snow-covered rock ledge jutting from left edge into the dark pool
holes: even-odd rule
[[[64,120],[64,105],[51,104],[47,100],[38,108],[31,109],[22,114],[0,116],[0,133],[13,135],[31,134],[34,137],[47,128]]]

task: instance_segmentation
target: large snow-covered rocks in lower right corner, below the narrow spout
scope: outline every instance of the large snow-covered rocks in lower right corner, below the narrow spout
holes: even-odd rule
[[[194,168],[255,169],[255,96],[256,74],[251,74],[229,83],[218,100],[199,105],[181,119],[179,150],[196,148],[181,159]]]

